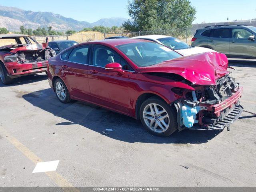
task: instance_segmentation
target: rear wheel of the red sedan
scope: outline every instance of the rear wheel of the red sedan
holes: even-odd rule
[[[58,78],[54,82],[54,90],[55,90],[56,97],[60,102],[68,103],[71,101],[68,88],[60,78]]]

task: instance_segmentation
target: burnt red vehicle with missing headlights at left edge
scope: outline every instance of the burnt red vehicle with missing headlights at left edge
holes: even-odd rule
[[[0,35],[0,78],[11,84],[13,78],[46,72],[48,59],[55,55],[48,42],[39,44],[28,35]]]

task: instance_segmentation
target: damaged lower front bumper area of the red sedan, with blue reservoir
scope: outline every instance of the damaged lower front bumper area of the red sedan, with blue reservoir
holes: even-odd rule
[[[243,111],[239,99],[243,88],[218,104],[206,104],[197,101],[175,103],[178,111],[179,131],[189,130],[223,130],[236,121]]]

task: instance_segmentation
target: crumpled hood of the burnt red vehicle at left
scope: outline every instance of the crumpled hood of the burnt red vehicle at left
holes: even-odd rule
[[[4,45],[0,47],[0,50],[2,49],[12,49],[14,45]],[[48,42],[47,43],[42,43],[42,44],[32,44],[32,45],[26,45],[26,46],[20,46],[17,48],[13,48],[12,50],[10,50],[10,52],[12,53],[16,53],[18,51],[32,51],[32,50],[44,50],[46,49],[48,46]]]

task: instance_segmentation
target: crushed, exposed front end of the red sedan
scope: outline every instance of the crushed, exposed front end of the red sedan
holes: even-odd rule
[[[230,74],[216,80],[216,85],[193,85],[175,103],[179,130],[223,130],[229,128],[243,111],[239,98],[243,88]]]

